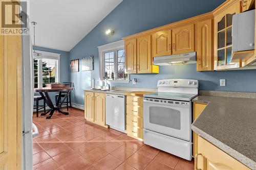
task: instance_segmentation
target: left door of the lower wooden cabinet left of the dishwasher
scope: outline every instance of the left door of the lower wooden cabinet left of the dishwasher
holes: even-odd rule
[[[94,122],[94,92],[86,91],[86,99],[84,101],[86,119]]]

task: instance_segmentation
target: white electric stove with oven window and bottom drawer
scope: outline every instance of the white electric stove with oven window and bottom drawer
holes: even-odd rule
[[[191,100],[198,80],[159,80],[158,92],[144,94],[144,143],[191,160]]]

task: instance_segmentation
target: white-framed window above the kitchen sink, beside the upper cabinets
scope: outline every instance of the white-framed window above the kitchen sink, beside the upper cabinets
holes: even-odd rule
[[[124,44],[117,41],[99,46],[100,80],[110,82],[129,82],[129,75],[124,74]]]

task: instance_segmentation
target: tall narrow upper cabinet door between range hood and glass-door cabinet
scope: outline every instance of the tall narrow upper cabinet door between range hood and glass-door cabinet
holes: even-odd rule
[[[211,19],[204,20],[197,23],[197,70],[207,71],[212,70],[212,56],[211,51]]]

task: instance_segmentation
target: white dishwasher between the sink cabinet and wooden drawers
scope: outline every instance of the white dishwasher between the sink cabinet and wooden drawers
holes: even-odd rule
[[[110,128],[125,131],[125,96],[117,94],[106,94],[106,125]]]

